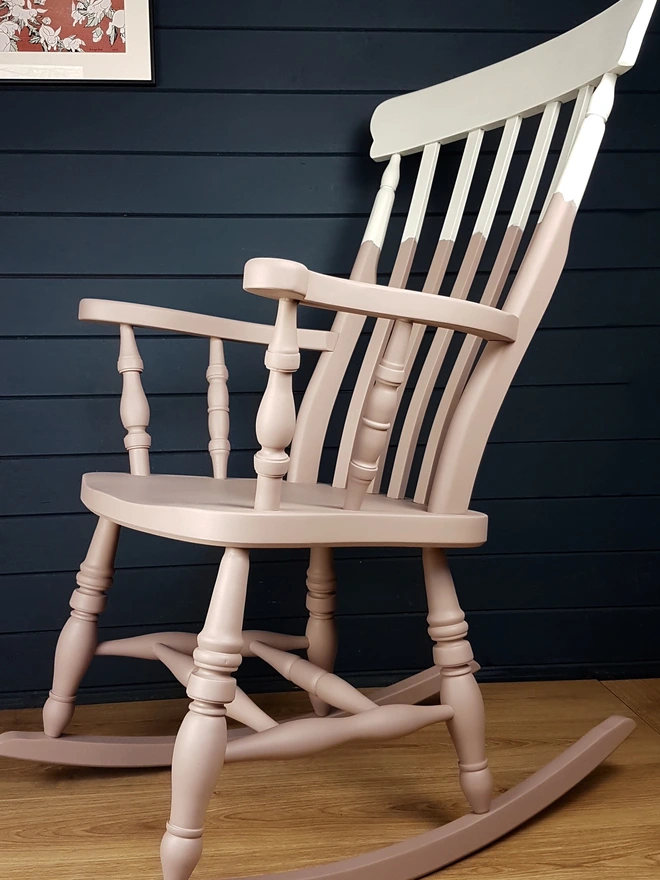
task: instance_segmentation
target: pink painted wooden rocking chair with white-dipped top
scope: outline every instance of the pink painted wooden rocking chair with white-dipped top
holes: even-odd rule
[[[634,64],[654,5],[655,0],[620,0],[536,49],[378,107],[371,124],[371,153],[387,166],[351,278],[320,275],[287,260],[255,259],[245,267],[245,289],[279,302],[274,327],[129,303],[81,303],[82,320],[120,325],[121,419],[131,473],[83,478],[82,499],[99,520],[57,647],[44,733],[6,733],[0,737],[0,754],[114,767],[171,762],[172,808],[161,847],[165,880],[191,876],[202,851],[204,814],[225,761],[297,758],[351,739],[386,739],[446,722],[472,808],[469,815],[406,843],[278,875],[290,880],[411,880],[490,843],[543,809],[604,760],[634,726],[629,719],[608,719],[526,782],[492,800],[484,708],[445,550],[476,547],[486,540],[486,516],[470,509],[482,454],[562,272],[617,78]],[[549,160],[564,104],[572,105],[567,133],[558,159]],[[508,226],[479,301],[468,300],[478,267],[488,262],[484,249],[496,228],[521,124],[534,116],[539,117],[538,127],[524,157]],[[459,229],[468,222],[466,201],[488,130],[500,135],[481,207],[449,295],[438,296],[448,280],[450,256],[459,250],[454,247]],[[462,140],[458,175],[423,292],[406,290],[441,146]],[[379,255],[400,166],[405,167],[402,157],[412,153],[421,153],[421,162],[391,280],[381,286],[376,283]],[[556,167],[550,168],[551,182],[542,188],[548,160]],[[538,224],[528,242],[524,231],[537,207]],[[523,259],[513,272],[518,251]],[[335,311],[332,329],[297,329],[299,305]],[[318,482],[321,449],[366,316],[376,322],[344,422],[334,481],[324,485]],[[213,477],[149,475],[149,406],[134,326],[210,338]],[[427,328],[435,329],[425,350],[420,346]],[[466,334],[465,339],[455,349],[430,428],[423,429],[431,392],[456,332]],[[251,480],[226,478],[229,398],[222,340],[228,339],[268,346],[268,385],[256,424],[261,449],[254,459],[256,479]],[[300,348],[320,355],[296,414],[292,376]],[[418,379],[412,396],[404,397],[418,354]],[[386,451],[397,418],[401,427],[389,472]],[[423,457],[413,474],[420,442]],[[413,478],[413,497],[408,498]],[[166,632],[99,644],[97,621],[112,583],[120,527],[226,548],[199,636]],[[434,666],[373,699],[332,672],[337,647],[332,548],[347,546],[422,550]],[[310,548],[304,637],[243,630],[253,547]],[[305,650],[307,659],[292,653],[296,650]],[[98,655],[159,660],[187,686],[192,702],[176,741],[63,735],[82,677]],[[246,656],[261,657],[306,689],[314,713],[277,724],[259,709],[234,679]],[[415,705],[438,693],[439,704]],[[227,716],[244,727],[228,734]]]

